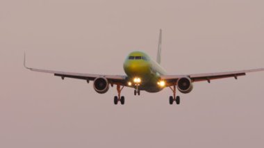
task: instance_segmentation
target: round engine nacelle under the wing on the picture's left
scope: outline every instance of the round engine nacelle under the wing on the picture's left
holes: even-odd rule
[[[109,90],[108,80],[104,77],[94,79],[94,90],[99,94],[104,94]]]

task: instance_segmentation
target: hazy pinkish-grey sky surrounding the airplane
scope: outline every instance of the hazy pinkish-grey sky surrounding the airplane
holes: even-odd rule
[[[115,106],[112,88],[31,67],[124,74],[129,52],[170,74],[264,67],[264,1],[0,1],[0,147],[263,147],[264,73],[195,83],[180,106],[170,89]]]

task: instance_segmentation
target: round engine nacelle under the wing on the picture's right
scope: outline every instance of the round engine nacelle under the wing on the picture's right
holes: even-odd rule
[[[177,81],[177,88],[183,94],[191,92],[193,88],[192,80],[189,77],[183,77],[179,79]]]

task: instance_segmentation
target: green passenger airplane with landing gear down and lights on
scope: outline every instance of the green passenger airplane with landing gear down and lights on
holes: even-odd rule
[[[47,69],[36,69],[26,66],[26,54],[24,54],[24,67],[35,72],[44,72],[54,74],[54,76],[60,76],[61,79],[83,79],[89,83],[93,81],[93,88],[99,94],[108,92],[109,85],[113,87],[116,85],[117,96],[114,97],[114,104],[120,103],[124,105],[125,98],[121,96],[121,92],[124,87],[134,89],[134,95],[140,95],[140,91],[146,92],[160,92],[164,88],[170,88],[172,90],[172,96],[169,97],[169,103],[180,104],[180,97],[176,96],[176,90],[183,94],[187,94],[192,91],[193,83],[199,81],[207,81],[211,83],[211,80],[224,79],[233,77],[238,79],[238,76],[245,76],[249,72],[264,71],[264,68],[260,69],[247,69],[235,72],[218,72],[208,74],[183,74],[183,75],[168,75],[165,69],[160,66],[161,63],[161,44],[162,44],[162,30],[160,29],[158,39],[158,54],[156,60],[153,60],[147,54],[142,51],[133,51],[126,57],[123,67],[126,75],[106,75],[106,74],[82,74],[74,72],[57,72]]]

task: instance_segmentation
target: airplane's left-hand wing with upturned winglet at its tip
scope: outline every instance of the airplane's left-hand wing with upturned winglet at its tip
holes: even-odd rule
[[[24,67],[26,67],[26,56],[24,56]],[[110,84],[121,84],[126,85],[126,76],[121,75],[104,75],[104,74],[83,74],[83,73],[74,73],[74,72],[58,72],[53,70],[47,70],[47,69],[37,69],[37,68],[31,68],[26,67],[26,69],[30,69],[34,72],[44,72],[49,74],[54,74],[54,76],[60,76],[62,79],[64,78],[72,78],[72,79],[83,79],[86,81],[93,81],[97,77],[105,77],[108,79]]]

